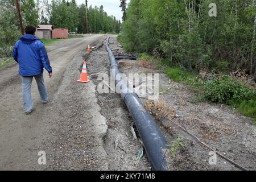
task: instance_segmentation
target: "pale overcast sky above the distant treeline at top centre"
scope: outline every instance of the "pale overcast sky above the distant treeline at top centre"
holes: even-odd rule
[[[126,0],[127,4],[130,0]],[[85,4],[85,0],[76,0],[77,5]],[[122,11],[120,5],[120,0],[88,0],[88,7],[92,5],[100,7],[103,5],[103,9],[108,15],[113,15],[115,18],[122,21]]]

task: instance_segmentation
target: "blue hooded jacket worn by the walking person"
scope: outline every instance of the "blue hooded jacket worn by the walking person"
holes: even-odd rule
[[[35,35],[26,34],[20,37],[13,49],[13,58],[19,63],[19,75],[36,76],[46,68],[52,72],[44,44]]]

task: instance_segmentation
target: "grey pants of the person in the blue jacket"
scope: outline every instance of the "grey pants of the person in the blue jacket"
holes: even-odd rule
[[[38,91],[43,103],[48,100],[46,85],[44,84],[43,73],[37,76],[21,76],[22,77],[22,93],[23,93],[23,108],[25,112],[33,109],[33,100],[31,94],[31,84],[33,77],[35,77],[38,84]]]

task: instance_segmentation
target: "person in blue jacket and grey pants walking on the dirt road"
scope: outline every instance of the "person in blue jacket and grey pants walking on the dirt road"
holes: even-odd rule
[[[13,49],[13,58],[19,63],[19,75],[22,78],[23,108],[26,114],[33,110],[31,95],[32,79],[35,77],[43,104],[48,101],[44,84],[43,69],[52,77],[52,68],[44,44],[35,36],[36,27],[27,26],[26,35],[20,37]]]

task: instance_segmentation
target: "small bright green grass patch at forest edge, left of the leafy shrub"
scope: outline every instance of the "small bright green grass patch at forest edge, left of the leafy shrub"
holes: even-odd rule
[[[191,72],[185,71],[181,68],[167,68],[164,73],[168,75],[172,80],[176,82],[184,82],[187,79],[192,79],[195,75]]]

